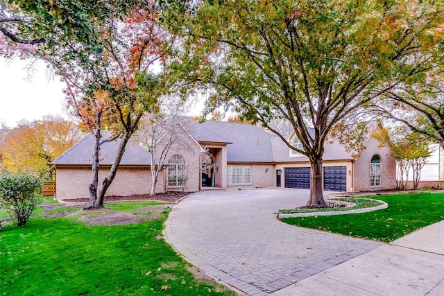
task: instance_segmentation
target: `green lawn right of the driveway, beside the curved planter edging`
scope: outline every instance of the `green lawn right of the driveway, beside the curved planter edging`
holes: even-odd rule
[[[378,195],[377,199],[387,202],[388,208],[363,214],[282,218],[282,222],[389,243],[444,220],[443,193]]]

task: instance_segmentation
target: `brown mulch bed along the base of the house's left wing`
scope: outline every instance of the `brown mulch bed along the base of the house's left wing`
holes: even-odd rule
[[[125,200],[156,200],[160,202],[173,202],[176,203],[181,198],[191,194],[190,192],[165,192],[165,193],[155,193],[154,195],[149,194],[133,194],[127,196],[110,195],[105,196],[104,202],[119,202]],[[89,202],[89,198],[73,198],[62,200],[64,202],[79,202],[85,203]]]

